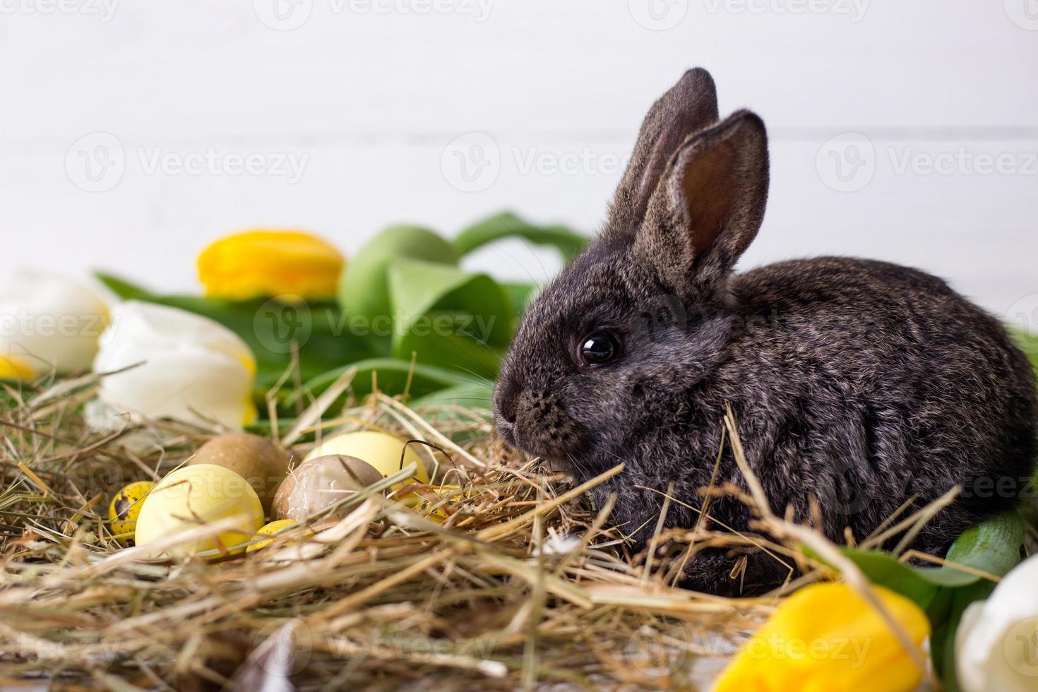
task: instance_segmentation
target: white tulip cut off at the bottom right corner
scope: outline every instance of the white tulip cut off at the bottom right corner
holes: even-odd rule
[[[962,613],[955,665],[964,692],[1038,690],[1038,555]]]

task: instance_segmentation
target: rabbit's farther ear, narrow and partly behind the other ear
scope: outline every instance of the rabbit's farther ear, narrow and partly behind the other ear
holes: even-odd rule
[[[666,162],[692,133],[717,122],[717,91],[710,73],[689,70],[653,104],[641,121],[627,171],[617,188],[608,232],[631,233],[645,217]]]

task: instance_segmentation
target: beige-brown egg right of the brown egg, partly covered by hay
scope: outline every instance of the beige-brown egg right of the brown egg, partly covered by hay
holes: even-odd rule
[[[340,454],[319,456],[304,462],[281,482],[271,518],[302,521],[382,478],[378,470],[359,459]],[[338,507],[331,516],[345,517],[355,507]]]

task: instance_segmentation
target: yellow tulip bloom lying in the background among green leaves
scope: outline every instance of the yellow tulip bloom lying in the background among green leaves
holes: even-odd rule
[[[198,278],[211,298],[332,298],[345,260],[334,247],[295,230],[249,230],[198,255]]]

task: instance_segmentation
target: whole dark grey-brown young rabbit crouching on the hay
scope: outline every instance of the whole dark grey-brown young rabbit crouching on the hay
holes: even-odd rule
[[[612,520],[640,549],[671,483],[665,526],[696,524],[731,405],[771,509],[840,543],[961,486],[912,543],[943,555],[1026,490],[1032,368],[996,320],[918,270],[819,257],[733,273],[767,193],[764,123],[718,122],[713,80],[689,71],[646,116],[600,239],[523,320],[494,394],[499,434],[577,481],[623,462],[593,497],[617,495]],[[730,445],[726,481],[746,488]],[[750,530],[734,497],[708,514]],[[764,552],[710,548],[683,583],[736,593],[788,575]]]

